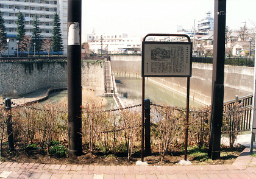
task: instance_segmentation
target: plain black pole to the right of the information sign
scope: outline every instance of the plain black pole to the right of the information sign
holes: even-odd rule
[[[224,60],[226,37],[226,0],[215,0],[213,80],[210,144],[208,156],[212,160],[220,157],[221,125],[224,98]]]

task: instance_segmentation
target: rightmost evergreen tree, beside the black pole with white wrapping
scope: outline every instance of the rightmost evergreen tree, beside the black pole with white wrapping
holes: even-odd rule
[[[54,24],[52,30],[52,51],[58,52],[63,51],[62,44],[62,31],[60,29],[60,17],[57,13],[54,14]]]

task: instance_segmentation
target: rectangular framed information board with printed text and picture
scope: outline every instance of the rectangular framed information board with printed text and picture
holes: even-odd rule
[[[191,77],[192,43],[143,41],[142,76]]]

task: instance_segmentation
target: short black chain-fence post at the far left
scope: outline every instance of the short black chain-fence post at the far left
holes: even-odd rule
[[[13,143],[13,130],[12,130],[12,102],[10,98],[5,98],[5,109],[7,111],[6,125],[7,125],[7,135],[8,135],[8,144],[9,151],[14,151]]]

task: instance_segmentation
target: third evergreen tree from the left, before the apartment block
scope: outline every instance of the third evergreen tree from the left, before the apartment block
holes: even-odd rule
[[[35,51],[40,52],[41,50],[41,45],[42,45],[42,37],[41,37],[41,32],[40,32],[40,27],[39,27],[39,21],[38,21],[38,16],[35,14],[34,18],[34,30],[32,32],[32,44],[35,43]]]

